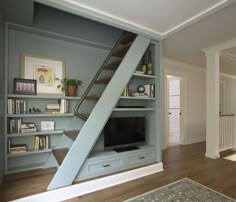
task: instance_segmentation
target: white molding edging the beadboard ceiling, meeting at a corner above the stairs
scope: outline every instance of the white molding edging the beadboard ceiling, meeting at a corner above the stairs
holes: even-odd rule
[[[85,4],[79,3],[75,0],[35,0],[42,4],[47,4],[61,10],[68,11],[70,13],[74,13],[76,15],[83,16],[85,18],[89,18],[101,23],[105,23],[111,26],[115,26],[117,28],[121,28],[127,31],[135,32],[137,34],[142,34],[152,39],[161,40],[170,36],[171,34],[187,27],[190,24],[193,24],[202,18],[226,7],[227,5],[233,3],[235,0],[222,0],[213,6],[203,10],[197,15],[183,21],[182,23],[172,27],[171,29],[160,32],[158,30],[154,30],[150,27],[146,27],[145,25],[137,24],[132,21],[128,21],[124,18],[120,18],[118,16],[109,14],[107,12],[103,12],[96,8],[91,8]]]

